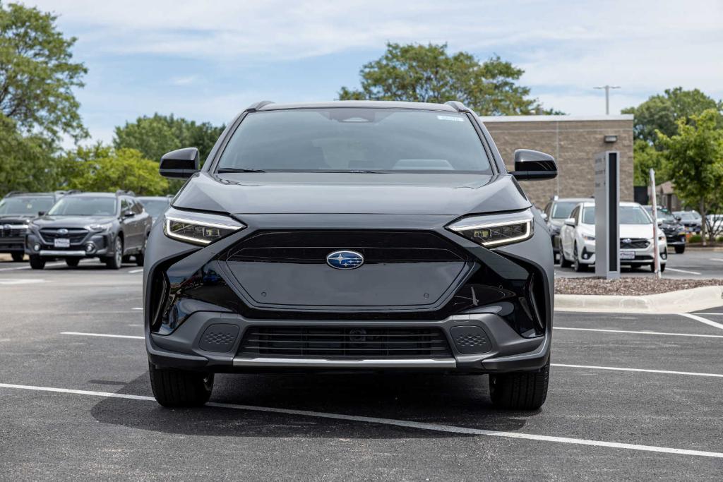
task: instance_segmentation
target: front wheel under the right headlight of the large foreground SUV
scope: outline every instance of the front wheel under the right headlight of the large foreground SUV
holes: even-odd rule
[[[539,371],[490,374],[489,397],[497,408],[534,410],[547,398],[549,360]]]

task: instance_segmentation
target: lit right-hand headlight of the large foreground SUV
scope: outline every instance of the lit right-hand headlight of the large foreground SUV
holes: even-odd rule
[[[518,243],[532,237],[532,214],[529,211],[491,216],[470,216],[447,226],[465,238],[486,248]]]

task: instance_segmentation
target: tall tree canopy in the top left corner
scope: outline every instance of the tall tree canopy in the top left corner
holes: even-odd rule
[[[87,72],[72,61],[75,38],[56,27],[54,14],[0,4],[0,113],[25,133],[59,139],[87,136],[73,95]]]

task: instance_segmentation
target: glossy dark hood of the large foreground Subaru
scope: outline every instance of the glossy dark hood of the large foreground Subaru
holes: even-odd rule
[[[232,214],[420,215],[531,206],[507,174],[448,173],[199,173],[172,205]]]

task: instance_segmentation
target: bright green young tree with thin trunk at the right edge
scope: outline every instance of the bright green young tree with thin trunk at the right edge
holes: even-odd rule
[[[723,130],[717,128],[720,113],[707,109],[690,120],[677,120],[677,134],[658,131],[663,155],[675,194],[688,205],[697,206],[705,220],[711,205],[723,197]],[[703,243],[708,233],[703,223]],[[711,241],[712,239],[711,233]]]

